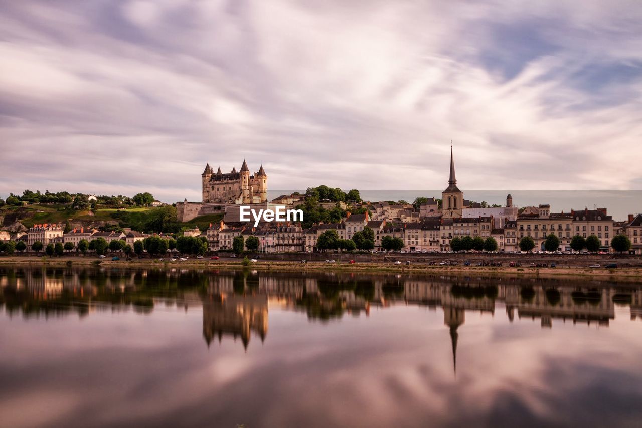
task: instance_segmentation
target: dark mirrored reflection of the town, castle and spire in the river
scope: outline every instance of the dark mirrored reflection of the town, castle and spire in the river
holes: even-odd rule
[[[10,316],[87,316],[96,311],[150,313],[155,307],[202,310],[202,334],[212,341],[252,337],[265,341],[270,307],[304,312],[329,321],[345,314],[370,315],[372,307],[420,305],[442,309],[456,371],[458,334],[466,312],[494,314],[504,307],[508,320],[553,320],[607,327],[616,304],[642,318],[642,289],[635,284],[577,280],[415,276],[355,273],[275,273],[180,269],[0,268],[0,304]]]

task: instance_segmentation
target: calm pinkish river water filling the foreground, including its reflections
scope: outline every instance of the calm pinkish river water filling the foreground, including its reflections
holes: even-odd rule
[[[6,427],[636,426],[642,286],[0,267]]]

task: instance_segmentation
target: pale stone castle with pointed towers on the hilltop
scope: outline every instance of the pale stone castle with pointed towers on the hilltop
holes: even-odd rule
[[[221,168],[214,173],[205,166],[202,174],[203,203],[264,203],[268,201],[268,176],[263,170],[250,175],[250,169],[243,160],[241,171],[232,168],[229,174],[221,173]]]

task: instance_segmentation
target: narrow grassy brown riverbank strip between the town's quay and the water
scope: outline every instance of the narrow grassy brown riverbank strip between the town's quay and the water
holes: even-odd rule
[[[95,257],[2,257],[0,266],[101,266],[105,268],[185,268],[185,269],[229,269],[244,268],[241,260],[232,259],[187,259],[186,261],[159,261],[157,259],[134,259],[131,261],[111,261]],[[530,268],[528,266],[439,266],[429,264],[394,264],[392,262],[292,262],[292,261],[257,261],[250,266],[252,270],[266,271],[343,271],[343,272],[381,272],[381,273],[421,273],[425,275],[510,275],[513,277],[560,278],[584,277],[596,280],[613,280],[642,282],[640,268],[583,268],[578,266],[557,266],[555,268]]]

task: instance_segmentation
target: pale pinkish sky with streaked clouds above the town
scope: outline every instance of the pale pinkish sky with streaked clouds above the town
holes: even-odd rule
[[[0,197],[642,189],[642,3],[0,0]]]

